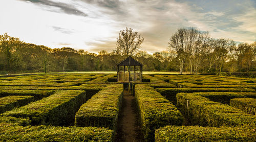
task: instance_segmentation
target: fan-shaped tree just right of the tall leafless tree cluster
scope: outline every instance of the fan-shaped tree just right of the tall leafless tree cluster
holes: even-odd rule
[[[234,50],[234,45],[236,45],[236,43],[230,39],[220,38],[210,40],[210,46],[214,49],[215,60],[219,66],[219,73],[222,72],[229,53]]]

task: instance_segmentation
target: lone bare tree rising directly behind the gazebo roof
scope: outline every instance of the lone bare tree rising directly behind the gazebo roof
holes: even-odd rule
[[[117,38],[116,50],[122,55],[134,55],[140,49],[140,45],[144,38],[138,35],[138,32],[133,32],[133,29],[126,28],[120,31],[119,38]]]

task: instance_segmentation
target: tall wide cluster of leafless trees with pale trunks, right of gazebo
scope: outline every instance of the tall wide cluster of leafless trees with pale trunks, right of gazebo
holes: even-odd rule
[[[209,33],[202,32],[195,28],[180,28],[169,39],[168,49],[175,53],[179,61],[180,73],[186,60],[189,63],[190,73],[197,74],[198,67],[203,60],[202,56],[206,52],[209,43]]]

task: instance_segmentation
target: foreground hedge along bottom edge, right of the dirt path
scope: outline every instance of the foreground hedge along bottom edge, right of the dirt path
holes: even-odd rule
[[[253,131],[230,127],[165,126],[155,132],[156,142],[164,141],[255,141]]]

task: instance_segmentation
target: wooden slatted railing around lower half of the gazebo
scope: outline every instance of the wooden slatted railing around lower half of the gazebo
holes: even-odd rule
[[[118,82],[141,82],[141,73],[138,71],[130,72],[130,79],[129,79],[129,72],[118,72]]]

